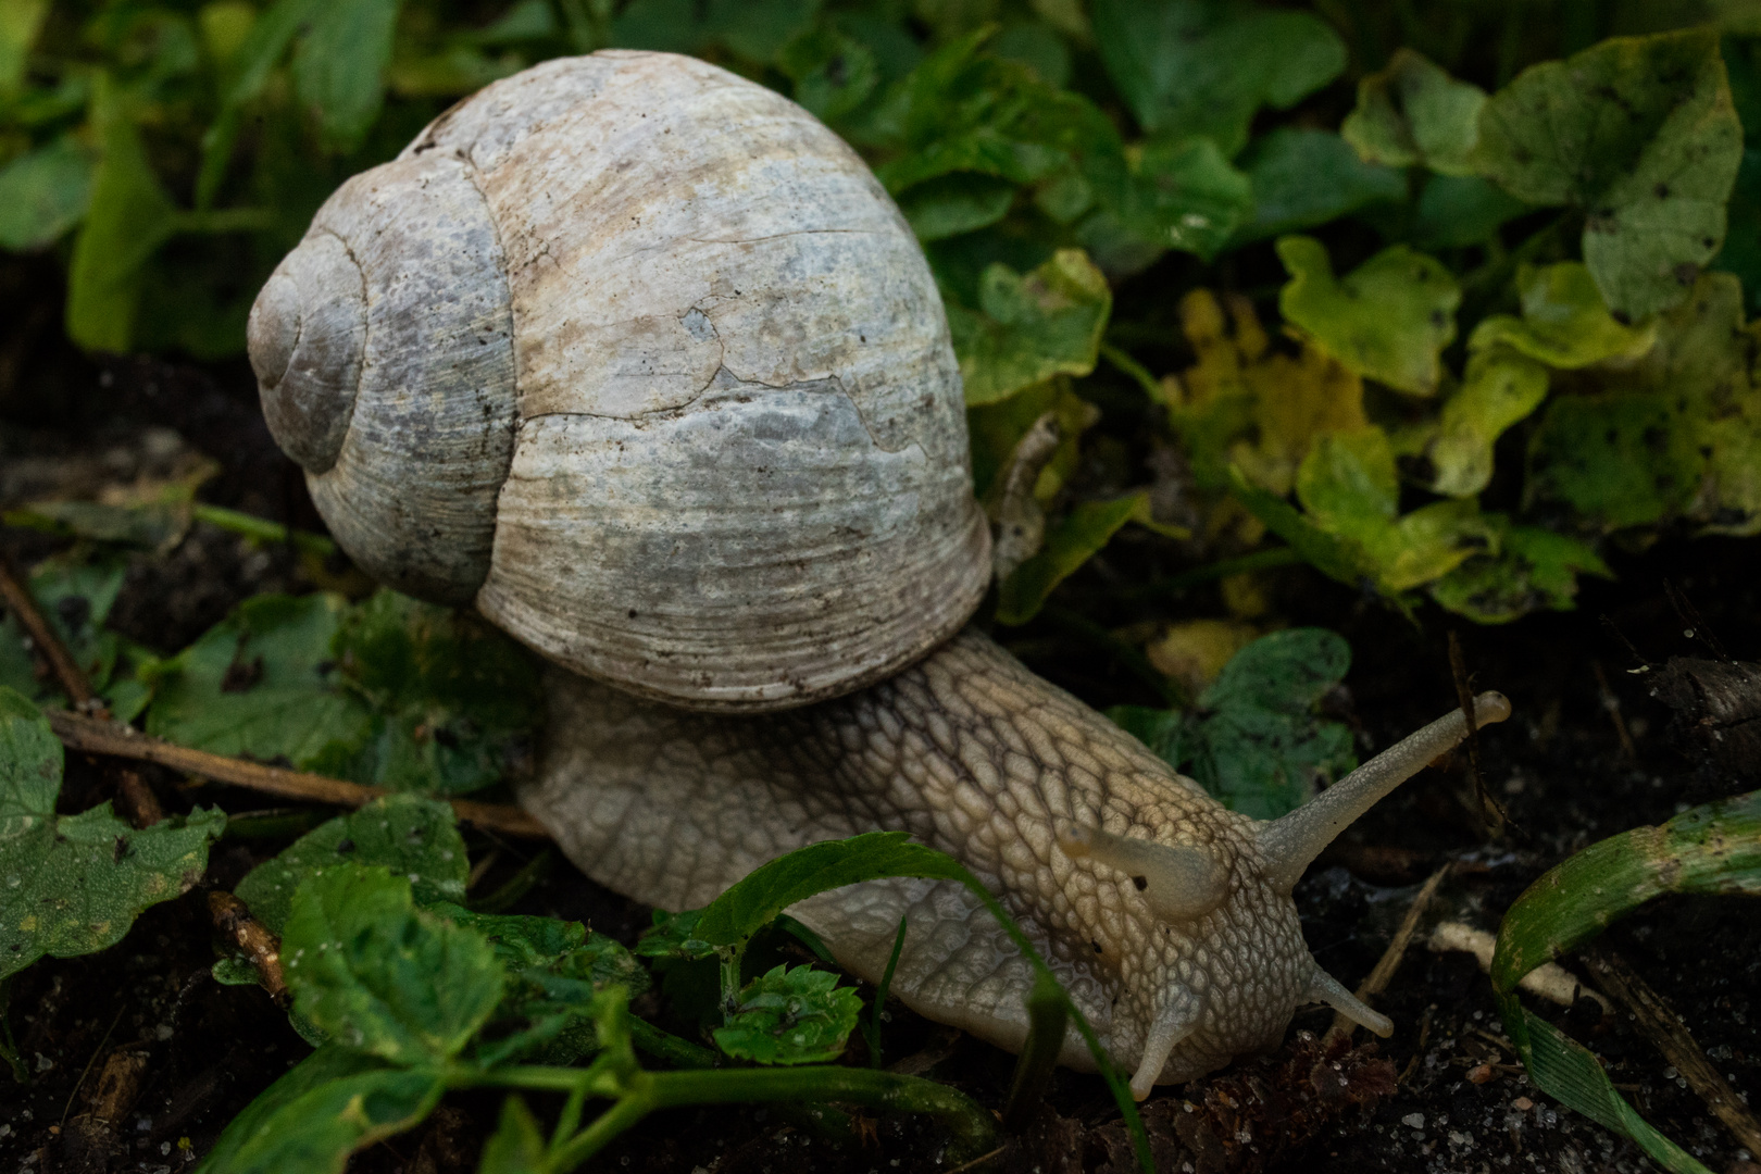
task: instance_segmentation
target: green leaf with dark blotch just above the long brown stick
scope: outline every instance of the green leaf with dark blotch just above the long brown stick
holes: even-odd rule
[[[153,667],[146,730],[166,741],[321,769],[350,760],[373,713],[336,688],[338,595],[257,595]]]

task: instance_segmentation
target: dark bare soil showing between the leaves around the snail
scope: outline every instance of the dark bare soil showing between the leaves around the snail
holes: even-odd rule
[[[321,528],[294,466],[268,444],[252,398],[234,394],[250,387],[243,370],[148,361],[92,368],[62,354],[32,354],[16,333],[0,347],[0,408],[12,421],[0,424],[0,502],[127,482],[153,452],[187,444],[222,463],[204,500]],[[44,400],[30,380],[51,375],[58,391]],[[167,438],[164,429],[174,435]],[[18,561],[53,549],[30,532],[0,535]],[[1108,625],[1220,611],[1215,591],[1194,590],[1115,614],[1109,584],[1138,574],[1134,561],[1148,558],[1131,540],[1116,546],[1111,561],[1097,561],[1067,584],[1060,600],[1071,611]],[[1761,658],[1754,544],[1671,539],[1615,565],[1617,581],[1587,581],[1578,611],[1495,628],[1437,611],[1407,623],[1303,569],[1280,574],[1284,620],[1331,627],[1351,641],[1354,667],[1328,704],[1354,725],[1363,755],[1455,706],[1451,630],[1476,686],[1506,692],[1516,709],[1481,743],[1485,785],[1509,817],[1502,836],[1486,834],[1465,757],[1458,757],[1379,804],[1298,887],[1308,943],[1347,986],[1370,972],[1419,882],[1444,862],[1456,868],[1430,921],[1449,917],[1495,929],[1523,887],[1564,855],[1757,785],[1752,759],[1720,757],[1717,745],[1696,736],[1698,727],[1650,695],[1655,672],[1634,672],[1647,664],[1661,669],[1671,657]],[[114,623],[169,651],[250,593],[312,586],[287,553],[254,549],[197,526],[167,556],[139,556]],[[1095,611],[1085,611],[1090,602]],[[1004,635],[1020,642],[1037,671],[1095,704],[1148,701],[1104,649],[1055,620]],[[65,810],[111,797],[114,769],[70,757]],[[218,801],[232,813],[269,806],[241,790],[192,790],[171,773],[146,771],[146,781],[167,810],[195,801]],[[232,885],[280,843],[224,841],[208,880]],[[502,845],[484,889],[525,859],[523,848]],[[625,942],[648,921],[646,910],[565,864],[514,912],[590,921]],[[1669,998],[1749,1100],[1761,1097],[1756,914],[1752,899],[1671,898],[1603,940]],[[204,894],[192,891],[150,910],[104,954],[44,959],[18,975],[7,1019],[32,1082],[19,1088],[0,1075],[0,1165],[169,1174],[199,1160],[232,1114],[306,1053],[262,991],[215,984],[208,975],[213,961]],[[1587,973],[1580,961],[1562,961],[1580,977]],[[1159,1163],[1168,1170],[1351,1174],[1648,1169],[1634,1144],[1560,1109],[1527,1081],[1470,956],[1430,952],[1421,935],[1377,1002],[1396,1023],[1386,1042],[1326,1049],[1314,1037],[1326,1031],[1331,1012],[1307,1009],[1275,1056],[1160,1090],[1145,1107]],[[1588,998],[1569,1010],[1527,1002],[1594,1047],[1639,1112],[1710,1169],[1757,1169],[1743,1165],[1750,1155],[1624,1014],[1604,1016]],[[667,1014],[655,996],[639,1010]],[[884,1054],[986,1105],[1000,1107],[1009,1086],[1011,1056],[898,1007]],[[497,1112],[497,1097],[449,1098],[421,1130],[370,1149],[350,1169],[472,1170]],[[946,1139],[925,1119],[886,1116],[859,1126],[858,1139],[836,1139],[775,1107],[676,1111],[627,1134],[593,1169],[889,1174],[953,1165]],[[1009,1146],[991,1169],[1051,1174],[1131,1167],[1106,1091],[1069,1072],[1055,1075],[1046,1105]]]

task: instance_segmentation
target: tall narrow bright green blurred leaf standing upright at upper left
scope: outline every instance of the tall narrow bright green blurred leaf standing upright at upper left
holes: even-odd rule
[[[178,227],[116,83],[99,74],[92,123],[100,155],[86,220],[67,268],[67,336],[86,350],[129,350],[141,271]]]

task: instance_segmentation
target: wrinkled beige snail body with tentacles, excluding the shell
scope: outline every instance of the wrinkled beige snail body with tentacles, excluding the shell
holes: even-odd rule
[[[1004,901],[1139,1098],[1275,1047],[1305,1002],[1389,1030],[1315,966],[1291,887],[1340,818],[1465,732],[1460,713],[1442,718],[1263,824],[974,630],[859,693],[761,718],[652,706],[565,672],[548,693],[542,769],[521,801],[590,877],[696,908],[792,848],[907,831]],[[1507,711],[1486,693],[1477,720]],[[791,914],[870,982],[907,919],[893,993],[1020,1049],[1034,975],[960,885],[868,882]],[[1060,1060],[1094,1067],[1074,1031]]]

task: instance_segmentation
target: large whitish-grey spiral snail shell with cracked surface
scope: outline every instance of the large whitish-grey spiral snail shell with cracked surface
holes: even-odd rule
[[[898,209],[704,62],[495,83],[319,209],[250,315],[264,415],[373,577],[699,709],[889,676],[990,574]]]

